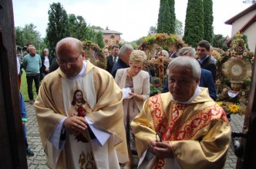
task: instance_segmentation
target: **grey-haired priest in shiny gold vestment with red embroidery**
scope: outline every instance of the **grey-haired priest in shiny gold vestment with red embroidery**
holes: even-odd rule
[[[170,92],[148,98],[131,122],[138,168],[223,168],[231,126],[207,88],[198,86],[198,61],[173,58],[167,72]]]

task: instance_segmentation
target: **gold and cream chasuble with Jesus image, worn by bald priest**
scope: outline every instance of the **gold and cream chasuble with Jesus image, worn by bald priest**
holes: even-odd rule
[[[96,148],[96,141],[90,140],[89,132],[83,133],[86,139],[77,139],[66,134],[66,142],[61,151],[57,151],[49,142],[52,132],[62,118],[74,111],[72,99],[75,91],[80,90],[86,104],[78,112],[87,112],[86,118],[93,121],[100,129],[110,133],[110,138],[103,147],[106,147],[106,157],[99,159],[103,152]],[[79,108],[79,107],[77,107]],[[86,111],[91,110],[91,111]],[[42,146],[47,155],[47,164],[51,168],[101,168],[98,161],[106,161],[108,166],[119,168],[119,163],[129,161],[127,154],[126,135],[123,125],[123,94],[109,73],[97,68],[89,61],[86,63],[86,72],[82,78],[69,79],[60,69],[45,76],[39,88],[38,98],[35,100],[35,113],[39,124],[39,133]],[[82,137],[83,137],[82,136]],[[84,142],[89,140],[89,142]],[[113,150],[111,150],[113,147]],[[111,152],[110,152],[111,151]],[[117,165],[108,152],[116,154]],[[103,163],[103,162],[102,162]],[[101,164],[102,166],[102,164]]]

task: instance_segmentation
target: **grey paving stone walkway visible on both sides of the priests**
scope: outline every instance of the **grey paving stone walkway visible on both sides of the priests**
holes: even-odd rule
[[[29,147],[32,148],[35,155],[33,157],[27,157],[29,169],[49,169],[46,166],[45,153],[42,150],[41,139],[39,137],[39,128],[35,118],[34,106],[25,103],[27,110],[28,122],[26,123]],[[233,114],[231,115],[231,128],[232,131],[241,131],[244,124],[244,116]],[[237,157],[234,155],[233,146],[231,145],[228,154],[225,169],[235,168],[237,163]]]

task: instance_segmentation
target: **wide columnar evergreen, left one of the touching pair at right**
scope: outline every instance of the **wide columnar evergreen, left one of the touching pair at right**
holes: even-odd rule
[[[204,11],[202,0],[188,0],[183,40],[197,47],[197,43],[204,38]]]

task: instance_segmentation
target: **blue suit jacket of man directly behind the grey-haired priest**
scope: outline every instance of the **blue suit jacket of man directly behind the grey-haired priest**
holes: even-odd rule
[[[213,76],[211,75],[211,71],[205,70],[204,68],[201,68],[201,77],[199,86],[203,88],[208,88],[210,97],[216,101],[217,94],[216,94],[216,88],[214,84]],[[166,93],[169,91],[168,88],[168,76],[165,79],[164,87],[162,93]]]

